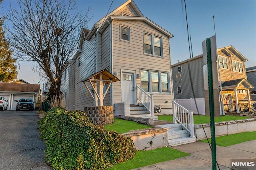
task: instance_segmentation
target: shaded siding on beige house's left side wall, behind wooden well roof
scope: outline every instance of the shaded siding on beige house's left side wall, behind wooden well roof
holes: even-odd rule
[[[80,57],[80,67],[78,59]],[[85,106],[93,105],[93,98],[86,89],[84,83],[80,83],[86,77],[94,73],[94,36],[90,41],[84,41],[82,51],[76,59],[75,67],[75,90],[74,90],[74,107],[76,110],[84,110]]]

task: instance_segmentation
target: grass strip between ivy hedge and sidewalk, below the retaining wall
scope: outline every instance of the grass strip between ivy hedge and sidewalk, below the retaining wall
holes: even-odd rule
[[[158,162],[181,158],[188,155],[190,154],[168,147],[148,151],[140,150],[136,153],[132,160],[119,163],[112,168],[109,168],[109,170],[130,170],[156,164]]]

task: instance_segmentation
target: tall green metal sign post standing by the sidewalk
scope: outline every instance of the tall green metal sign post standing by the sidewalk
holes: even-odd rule
[[[216,141],[215,141],[215,125],[214,125],[214,98],[213,98],[213,81],[212,81],[212,58],[211,58],[211,42],[210,38],[206,39],[207,64],[208,64],[208,85],[209,85],[209,106],[210,106],[210,125],[212,140],[212,170],[216,170]]]

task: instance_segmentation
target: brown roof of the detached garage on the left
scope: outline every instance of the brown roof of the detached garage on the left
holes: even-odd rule
[[[0,83],[0,92],[40,93],[40,85]]]

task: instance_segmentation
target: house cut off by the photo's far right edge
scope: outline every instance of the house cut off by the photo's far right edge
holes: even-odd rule
[[[250,90],[250,95],[252,103],[256,107],[256,66],[246,68],[246,75],[248,82],[253,86],[253,89]]]

